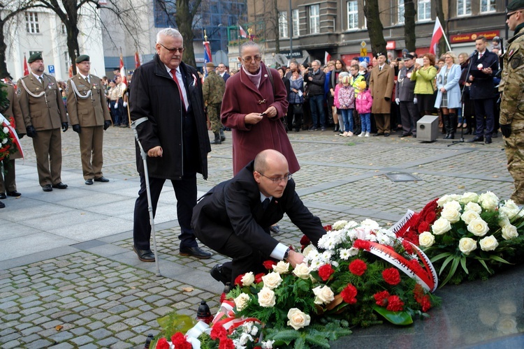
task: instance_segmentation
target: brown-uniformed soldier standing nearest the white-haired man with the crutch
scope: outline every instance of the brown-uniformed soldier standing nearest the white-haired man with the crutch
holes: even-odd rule
[[[89,74],[89,56],[76,59],[78,74],[67,83],[67,110],[73,131],[80,136],[80,156],[85,184],[93,181],[106,183],[103,177],[103,131],[111,126],[111,117],[105,103],[104,87],[99,77]]]

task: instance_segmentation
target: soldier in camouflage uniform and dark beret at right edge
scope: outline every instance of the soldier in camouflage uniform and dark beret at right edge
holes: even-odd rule
[[[504,148],[508,170],[514,179],[515,191],[511,199],[524,204],[524,0],[514,0],[507,6],[506,22],[514,31],[504,53],[504,69],[499,91],[500,130],[504,135]]]

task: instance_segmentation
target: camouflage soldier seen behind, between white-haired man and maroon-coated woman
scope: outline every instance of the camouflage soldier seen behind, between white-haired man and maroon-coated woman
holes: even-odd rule
[[[214,134],[214,141],[211,144],[221,144],[226,140],[224,131],[221,132],[222,123],[220,121],[220,109],[222,98],[226,90],[226,83],[217,73],[214,72],[214,64],[211,62],[205,64],[208,70],[208,77],[205,78],[202,87],[204,104],[208,106],[208,119],[211,122],[211,130]]]

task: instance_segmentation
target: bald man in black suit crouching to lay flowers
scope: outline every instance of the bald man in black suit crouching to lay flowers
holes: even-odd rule
[[[304,206],[295,191],[284,155],[261,151],[238,174],[212,188],[193,210],[191,225],[203,244],[233,260],[215,265],[211,275],[224,284],[247,272],[263,272],[268,258],[292,267],[304,260],[272,238],[269,228],[284,213],[316,246],[325,231],[321,221]]]

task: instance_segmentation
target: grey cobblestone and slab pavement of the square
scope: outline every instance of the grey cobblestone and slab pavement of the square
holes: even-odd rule
[[[198,178],[202,193],[232,176],[231,133],[226,136],[223,144],[212,145],[208,181]],[[325,224],[374,218],[391,225],[407,209],[421,209],[445,193],[490,190],[509,198],[513,191],[501,138],[493,144],[452,147],[447,147],[448,140],[422,143],[394,134],[342,138],[316,131],[289,133],[289,138],[301,165],[293,174],[298,192]],[[24,165],[17,162],[18,189],[24,195],[5,200],[8,207],[0,211],[0,225],[6,227],[0,238],[20,249],[13,258],[0,259],[0,347],[143,348],[147,334],[159,332],[156,319],[161,315],[173,309],[196,315],[202,299],[216,310],[221,286],[208,272],[226,259],[178,255],[180,230],[168,186],[156,219],[162,276],[156,275],[153,263],[138,261],[132,251],[130,222],[138,191],[132,131],[110,128],[105,133],[103,171],[112,179],[107,186],[82,186],[78,135],[68,131],[62,142],[68,191],[41,193],[31,140],[24,138],[26,160]],[[406,172],[417,180],[394,182],[386,177],[389,172]],[[117,195],[122,200],[117,201]],[[87,207],[87,202],[99,205]],[[34,214],[54,206],[61,215]],[[27,218],[31,214],[33,223]],[[56,224],[70,224],[71,216],[77,216],[75,225],[59,230]],[[115,229],[92,235],[103,225]],[[289,218],[279,225],[277,239],[298,245],[301,234]],[[34,238],[36,232],[45,233],[45,239]],[[53,244],[59,237],[67,239]],[[31,249],[38,245],[38,251]]]

